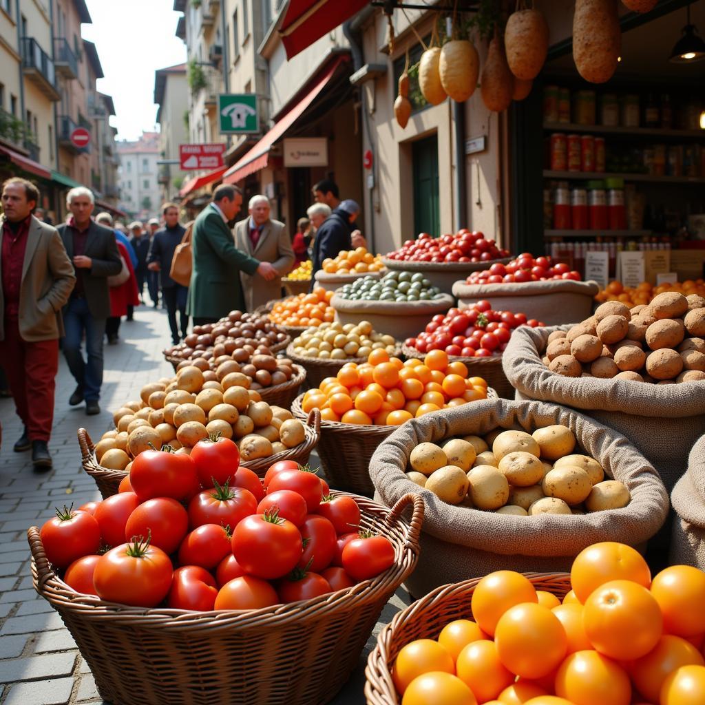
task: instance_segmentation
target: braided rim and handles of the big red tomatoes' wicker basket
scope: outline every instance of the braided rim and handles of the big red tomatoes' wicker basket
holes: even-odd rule
[[[348,495],[345,492],[331,491],[334,496]],[[195,636],[204,630],[246,630],[253,628],[283,626],[298,623],[309,618],[325,618],[331,613],[347,611],[360,606],[360,602],[374,602],[388,592],[390,586],[396,589],[415,567],[419,554],[419,534],[424,515],[424,501],[417,494],[407,494],[393,506],[374,502],[366,497],[354,496],[363,516],[367,515],[379,525],[386,526],[388,532],[402,532],[403,545],[398,542],[398,556],[394,565],[372,580],[364,580],[352,588],[338,590],[310,600],[288,604],[278,604],[252,611],[222,610],[196,612],[169,608],[130,607],[118,603],[102,601],[97,596],[80,594],[73,591],[56,575],[49,565],[44,553],[42,538],[38,527],[30,527],[27,541],[32,552],[32,580],[35,589],[47,599],[52,606],[61,603],[64,609],[73,609],[86,618],[110,618],[114,624],[125,620],[139,620],[140,628],[163,630],[168,627],[173,631],[188,632]],[[406,520],[403,512],[408,505],[413,505],[412,517]],[[48,594],[48,596],[47,596]]]

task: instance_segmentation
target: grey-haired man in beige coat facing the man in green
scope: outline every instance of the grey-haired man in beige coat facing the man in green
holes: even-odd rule
[[[276,276],[269,280],[240,272],[245,310],[254,311],[268,301],[281,298],[281,278],[291,271],[294,251],[284,223],[269,217],[269,198],[252,196],[247,212],[250,217],[235,224],[235,247],[260,262],[271,262],[276,270]]]

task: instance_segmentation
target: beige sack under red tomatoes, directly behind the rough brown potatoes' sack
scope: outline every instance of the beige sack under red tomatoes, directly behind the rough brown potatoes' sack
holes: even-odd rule
[[[525,313],[527,318],[547,326],[580,323],[592,312],[592,302],[600,290],[594,281],[527,281],[508,284],[466,284],[456,281],[453,295],[458,306],[466,308],[477,301],[489,301],[496,311]]]

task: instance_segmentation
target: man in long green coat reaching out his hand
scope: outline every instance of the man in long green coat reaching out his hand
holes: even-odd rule
[[[240,212],[243,193],[222,184],[213,193],[193,226],[193,267],[186,311],[195,326],[214,323],[233,309],[245,310],[240,271],[269,281],[278,276],[270,262],[259,262],[235,247],[228,222]]]

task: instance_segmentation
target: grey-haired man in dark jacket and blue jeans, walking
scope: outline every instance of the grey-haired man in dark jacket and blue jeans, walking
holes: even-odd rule
[[[108,277],[119,274],[122,261],[114,232],[91,220],[94,208],[92,192],[78,186],[66,195],[72,216],[59,233],[76,272],[76,286],[64,307],[66,337],[63,355],[76,381],[68,400],[71,406],[84,399],[89,416],[100,413],[100,388],[103,384],[103,336],[110,316]],[[81,341],[85,334],[85,360]]]

